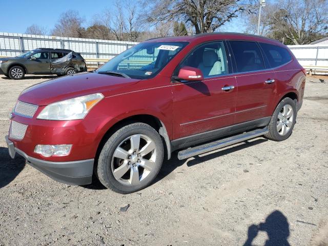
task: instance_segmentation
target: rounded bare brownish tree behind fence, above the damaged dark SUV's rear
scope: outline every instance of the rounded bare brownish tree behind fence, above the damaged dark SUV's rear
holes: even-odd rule
[[[60,15],[58,24],[55,25],[52,35],[65,37],[84,37],[85,28],[82,27],[84,19],[77,11],[68,10]]]

